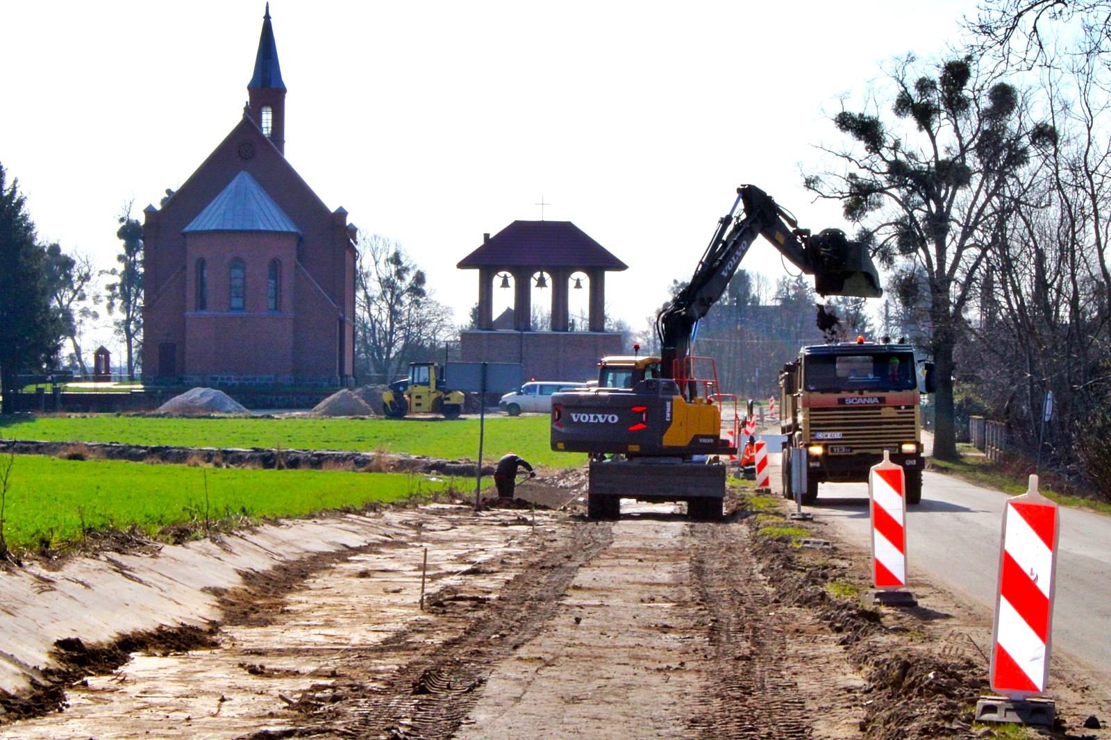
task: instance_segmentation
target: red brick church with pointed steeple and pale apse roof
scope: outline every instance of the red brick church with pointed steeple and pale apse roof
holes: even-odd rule
[[[240,121],[143,223],[144,382],[353,383],[356,227],[284,157],[267,4]]]

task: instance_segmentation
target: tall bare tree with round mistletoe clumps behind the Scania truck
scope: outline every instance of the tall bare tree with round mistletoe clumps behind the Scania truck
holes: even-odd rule
[[[1030,123],[1019,91],[978,76],[970,57],[924,69],[908,57],[888,82],[863,112],[833,117],[853,144],[823,148],[835,164],[805,184],[842,201],[882,264],[924,274],[928,349],[938,369],[934,454],[954,459],[953,351],[962,314],[1009,218],[1010,186],[1029,166],[1031,143],[1043,146],[1053,132]]]

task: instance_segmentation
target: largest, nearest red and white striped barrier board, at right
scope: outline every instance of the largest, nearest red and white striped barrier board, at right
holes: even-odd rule
[[[1045,690],[1059,521],[1057,504],[1038,492],[1038,476],[1003,510],[991,688],[1012,699]]]

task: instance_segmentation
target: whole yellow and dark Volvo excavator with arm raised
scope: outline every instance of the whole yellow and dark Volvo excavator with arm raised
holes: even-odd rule
[[[882,296],[867,244],[840,229],[812,234],[764,191],[739,187],[690,282],[657,316],[660,357],[602,358],[597,387],[552,397],[551,448],[590,456],[591,519],[619,518],[622,498],[685,501],[695,520],[722,516],[725,466],[705,460],[737,447],[721,436],[724,397],[713,360],[691,349],[699,321],[761,236],[812,274],[821,296]]]

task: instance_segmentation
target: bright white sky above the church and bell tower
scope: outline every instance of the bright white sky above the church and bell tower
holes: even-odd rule
[[[0,163],[40,239],[102,267],[236,126],[259,0],[0,0]],[[286,157],[330,209],[400,242],[467,321],[456,263],[513,220],[572,221],[624,261],[634,329],[688,279],[741,183],[814,231],[851,231],[802,172],[883,66],[943,56],[975,0],[270,4]],[[742,269],[785,274],[760,242]],[[510,291],[496,291],[496,293]],[[584,291],[583,291],[584,292]],[[501,296],[499,296],[501,300]],[[536,300],[536,299],[533,299]],[[109,344],[111,347],[111,344]]]

